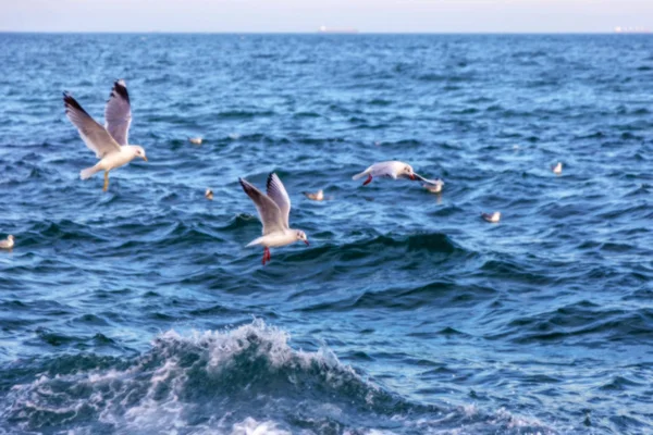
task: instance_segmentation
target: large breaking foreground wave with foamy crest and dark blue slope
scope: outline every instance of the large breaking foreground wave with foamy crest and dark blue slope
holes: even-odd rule
[[[178,434],[555,433],[504,409],[410,402],[328,348],[295,350],[289,338],[255,320],[224,332],[169,331],[133,359],[62,355],[19,361],[4,368],[13,383],[0,383],[0,427],[74,434],[173,427]]]

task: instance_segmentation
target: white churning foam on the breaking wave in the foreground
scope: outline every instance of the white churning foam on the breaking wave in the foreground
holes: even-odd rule
[[[170,331],[157,336],[152,349],[126,368],[44,374],[32,383],[13,386],[9,401],[2,403],[10,406],[0,411],[0,417],[21,421],[23,430],[67,422],[79,425],[73,433],[91,433],[84,424],[93,422],[81,417],[90,412],[95,424],[99,422],[120,432],[187,433],[192,424],[188,419],[193,418],[195,408],[206,405],[188,399],[196,393],[196,384],[205,377],[220,383],[222,380],[217,376],[224,372],[226,381],[248,375],[238,372],[242,369],[236,366],[238,358],[263,361],[271,375],[283,370],[284,374],[289,373],[288,382],[293,382],[297,372],[308,370],[333,387],[353,378],[362,382],[330,350],[295,350],[289,339],[289,334],[260,320],[232,331],[192,332],[187,336]],[[201,389],[201,385],[199,387]],[[210,391],[204,393],[210,396]],[[229,399],[219,399],[217,406]],[[336,414],[333,409],[325,413]],[[234,422],[234,419],[237,417],[230,415],[229,411],[218,411],[208,422],[194,424],[192,433],[288,433],[269,420],[243,417]]]

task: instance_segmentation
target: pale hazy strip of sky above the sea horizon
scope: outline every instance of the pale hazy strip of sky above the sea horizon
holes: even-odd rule
[[[0,32],[609,33],[653,0],[0,0]]]

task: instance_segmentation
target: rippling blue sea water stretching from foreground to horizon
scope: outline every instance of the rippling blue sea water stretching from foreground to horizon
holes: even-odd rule
[[[653,433],[653,38],[0,34],[0,433]],[[116,78],[149,162],[104,194],[61,92],[101,121]],[[443,192],[352,181],[392,159]],[[262,266],[237,178],[272,171],[311,245]]]

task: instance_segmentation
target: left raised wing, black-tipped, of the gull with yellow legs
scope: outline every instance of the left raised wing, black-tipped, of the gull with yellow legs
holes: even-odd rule
[[[98,124],[90,115],[82,109],[82,105],[69,94],[63,94],[63,105],[65,114],[73,125],[79,130],[79,136],[86,146],[95,151],[98,159],[112,152],[120,151],[120,145],[107,132],[104,127]]]

